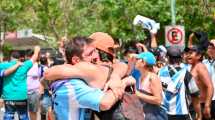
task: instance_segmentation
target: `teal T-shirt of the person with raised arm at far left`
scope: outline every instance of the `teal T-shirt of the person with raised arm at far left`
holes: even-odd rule
[[[7,69],[15,64],[16,60],[1,63],[0,69]],[[3,98],[5,100],[27,99],[26,77],[32,64],[30,60],[25,61],[14,73],[3,78]]]

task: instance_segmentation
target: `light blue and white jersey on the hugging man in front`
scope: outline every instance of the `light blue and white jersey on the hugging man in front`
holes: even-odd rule
[[[80,79],[65,81],[53,94],[56,120],[90,120],[91,111],[99,111],[104,93]],[[90,110],[89,110],[90,109]]]

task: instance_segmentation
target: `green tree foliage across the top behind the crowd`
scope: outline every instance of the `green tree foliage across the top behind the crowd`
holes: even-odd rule
[[[96,31],[122,41],[143,40],[143,30],[132,25],[137,14],[160,22],[163,40],[164,26],[171,23],[170,0],[1,0],[0,5],[0,12],[7,13],[8,30],[32,28],[56,40]],[[212,0],[176,0],[176,23],[185,26],[187,35],[204,30],[212,38],[214,6]]]

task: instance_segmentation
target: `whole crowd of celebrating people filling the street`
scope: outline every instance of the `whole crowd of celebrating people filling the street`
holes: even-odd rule
[[[215,40],[206,36],[194,32],[182,48],[158,45],[155,33],[119,45],[95,32],[63,38],[61,60],[39,46],[24,61],[12,52],[0,63],[4,120],[215,120]]]

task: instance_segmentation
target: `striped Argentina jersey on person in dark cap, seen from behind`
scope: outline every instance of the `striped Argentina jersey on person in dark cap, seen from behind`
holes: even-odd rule
[[[170,70],[174,74],[170,74]],[[188,105],[186,94],[199,95],[199,89],[192,79],[192,75],[185,69],[180,70],[173,66],[165,66],[158,73],[163,89],[163,106],[169,115],[187,115]],[[187,93],[186,93],[187,90]]]

